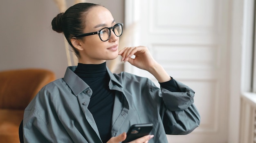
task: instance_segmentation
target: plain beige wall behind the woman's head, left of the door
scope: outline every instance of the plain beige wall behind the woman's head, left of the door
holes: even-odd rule
[[[67,0],[72,6],[74,0]],[[88,0],[104,5],[124,22],[124,0]],[[63,77],[67,58],[63,35],[52,30],[59,13],[53,0],[4,0],[0,4],[0,71],[45,68]]]

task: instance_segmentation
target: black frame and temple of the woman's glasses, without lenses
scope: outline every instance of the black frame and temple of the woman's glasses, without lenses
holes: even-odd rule
[[[122,32],[121,32],[121,34],[120,34],[119,36],[117,36],[117,34],[116,34],[115,31],[114,31],[114,27],[116,27],[117,25],[121,25],[121,28],[122,28]],[[109,31],[110,31],[107,40],[102,40],[102,39],[101,39],[100,31],[103,30],[104,28],[102,28],[101,30],[95,31],[95,32],[79,34],[79,35],[76,35],[76,36],[74,36],[74,37],[72,37],[72,38],[79,38],[79,37],[85,37],[85,36],[90,36],[90,35],[98,34],[98,35],[99,35],[99,38],[101,39],[101,41],[105,42],[105,41],[108,41],[108,40],[110,39],[110,36],[111,36],[111,29],[112,29],[112,31],[115,33],[115,35],[116,35],[117,37],[120,37],[120,36],[123,34],[123,26],[124,26],[123,23],[117,23],[117,24],[115,24],[114,26],[105,27],[105,28],[108,28]]]

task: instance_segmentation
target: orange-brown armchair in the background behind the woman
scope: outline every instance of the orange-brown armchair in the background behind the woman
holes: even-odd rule
[[[0,72],[0,143],[19,143],[19,126],[24,109],[38,91],[55,80],[45,69]]]

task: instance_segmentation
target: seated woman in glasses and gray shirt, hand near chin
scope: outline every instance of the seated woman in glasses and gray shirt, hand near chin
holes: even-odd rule
[[[166,134],[188,134],[199,126],[192,89],[171,78],[146,47],[118,52],[122,26],[108,9],[91,3],[71,6],[52,20],[53,30],[64,33],[79,63],[29,103],[25,142],[119,143],[132,124],[152,123],[150,135],[131,143],[167,143]],[[161,89],[148,78],[112,74],[106,60],[118,55],[153,74]]]

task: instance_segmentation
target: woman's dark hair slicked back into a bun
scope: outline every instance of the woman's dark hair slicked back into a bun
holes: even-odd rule
[[[88,11],[94,6],[101,6],[99,4],[92,3],[78,3],[65,11],[65,13],[59,13],[52,20],[52,29],[58,33],[64,33],[67,42],[72,46],[76,56],[79,57],[79,52],[74,48],[70,39],[75,35],[83,33],[85,28],[84,17]]]

